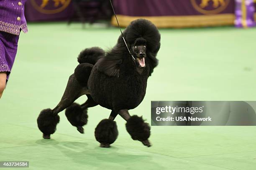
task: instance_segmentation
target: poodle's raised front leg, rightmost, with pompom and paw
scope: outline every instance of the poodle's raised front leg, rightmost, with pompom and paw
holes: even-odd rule
[[[131,135],[133,140],[138,140],[143,143],[143,145],[150,147],[151,144],[148,141],[150,136],[150,126],[148,123],[144,122],[142,117],[137,115],[131,116],[128,110],[120,110],[118,114],[126,120],[126,130]]]

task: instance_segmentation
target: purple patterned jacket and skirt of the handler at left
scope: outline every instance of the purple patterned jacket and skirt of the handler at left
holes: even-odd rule
[[[0,0],[0,72],[7,72],[7,79],[17,53],[20,31],[28,31],[24,16],[25,2]]]

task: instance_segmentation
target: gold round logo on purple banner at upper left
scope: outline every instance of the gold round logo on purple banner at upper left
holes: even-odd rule
[[[30,0],[30,2],[40,13],[56,14],[65,10],[71,0]]]

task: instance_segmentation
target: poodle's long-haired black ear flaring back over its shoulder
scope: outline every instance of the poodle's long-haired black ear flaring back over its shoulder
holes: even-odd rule
[[[116,60],[110,57],[103,57],[96,63],[96,67],[100,72],[110,77],[119,77],[119,68],[122,60]]]

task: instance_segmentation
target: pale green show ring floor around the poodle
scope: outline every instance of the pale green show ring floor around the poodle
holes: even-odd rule
[[[255,170],[256,127],[151,127],[151,148],[133,141],[117,117],[119,136],[99,148],[94,128],[110,110],[89,109],[79,134],[64,112],[51,140],[36,118],[59,102],[85,47],[109,49],[116,28],[64,23],[29,24],[0,100],[0,161],[29,161],[31,170]],[[256,29],[160,30],[159,66],[146,96],[130,113],[150,122],[151,100],[256,100]],[[80,97],[82,103],[86,97]],[[1,169],[1,168],[0,168]],[[4,168],[2,168],[4,169]],[[8,168],[8,170],[16,168]]]

